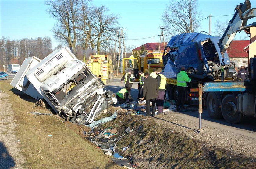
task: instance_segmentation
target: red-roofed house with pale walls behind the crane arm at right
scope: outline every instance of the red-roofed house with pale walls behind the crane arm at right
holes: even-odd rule
[[[233,67],[240,68],[241,66],[248,66],[248,53],[244,51],[244,48],[250,44],[250,40],[233,40],[229,48],[227,49],[227,53],[229,55],[231,63]]]

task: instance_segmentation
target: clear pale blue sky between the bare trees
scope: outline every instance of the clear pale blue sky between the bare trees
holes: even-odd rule
[[[160,35],[160,26],[164,23],[161,14],[166,8],[169,0],[94,0],[94,5],[105,5],[110,12],[119,14],[120,27],[125,28],[124,33],[127,39],[139,39]],[[244,3],[244,0],[198,0],[198,10],[202,17],[229,15],[234,13],[235,6]],[[252,7],[256,7],[256,1],[251,0]],[[46,12],[48,6],[43,0],[0,0],[0,37],[10,39],[36,38],[49,36],[52,38],[53,47],[59,42],[54,39],[51,32],[55,20]],[[212,17],[212,31],[217,19],[226,21],[232,16]],[[253,20],[253,19],[251,19]],[[255,21],[256,19],[254,19]],[[251,23],[253,21],[249,21]],[[201,21],[200,31],[209,30],[209,19]],[[167,32],[168,30],[166,30]],[[237,40],[243,39],[245,33],[241,32],[236,36]],[[142,43],[158,42],[159,36],[143,40],[126,40],[126,46],[140,46]],[[165,38],[165,41],[169,39]]]

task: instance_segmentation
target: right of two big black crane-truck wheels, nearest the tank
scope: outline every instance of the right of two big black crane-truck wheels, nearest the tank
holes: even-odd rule
[[[244,116],[237,111],[236,98],[233,94],[228,94],[222,99],[221,112],[224,119],[229,123],[239,123],[243,120]]]

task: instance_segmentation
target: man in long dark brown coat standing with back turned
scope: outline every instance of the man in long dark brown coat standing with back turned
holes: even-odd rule
[[[158,83],[157,80],[145,73],[143,98],[146,99],[146,113],[150,116],[150,102],[152,102],[152,116],[155,116],[155,101],[158,96]]]

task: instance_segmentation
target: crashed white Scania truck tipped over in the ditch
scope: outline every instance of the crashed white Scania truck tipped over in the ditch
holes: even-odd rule
[[[44,98],[62,118],[78,125],[91,123],[117,101],[68,47],[43,60],[26,58],[11,85],[37,100]]]

